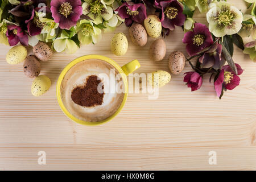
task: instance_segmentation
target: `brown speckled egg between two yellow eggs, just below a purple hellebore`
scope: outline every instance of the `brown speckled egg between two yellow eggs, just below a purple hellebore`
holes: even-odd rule
[[[131,41],[136,46],[145,46],[147,43],[147,32],[145,28],[139,23],[133,23],[133,25],[129,28],[129,35]]]

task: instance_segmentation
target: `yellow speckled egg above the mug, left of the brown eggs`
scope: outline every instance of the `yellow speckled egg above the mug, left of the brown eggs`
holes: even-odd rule
[[[111,51],[117,56],[122,56],[126,53],[127,49],[128,41],[125,34],[115,34],[111,42]]]

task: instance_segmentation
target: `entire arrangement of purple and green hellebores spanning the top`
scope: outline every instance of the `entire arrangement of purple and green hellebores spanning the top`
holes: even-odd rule
[[[74,53],[82,44],[97,43],[102,30],[111,31],[125,22],[143,23],[149,14],[159,16],[162,35],[175,26],[183,28],[187,61],[195,72],[185,73],[188,87],[201,87],[206,73],[214,76],[221,98],[223,90],[240,83],[242,69],[235,64],[233,44],[256,61],[256,0],[245,0],[249,14],[220,0],[2,0],[0,42],[14,46],[35,46],[51,42],[57,52]],[[209,28],[193,19],[195,10],[206,13]],[[197,57],[196,65],[191,59]],[[224,64],[228,62],[228,65]]]

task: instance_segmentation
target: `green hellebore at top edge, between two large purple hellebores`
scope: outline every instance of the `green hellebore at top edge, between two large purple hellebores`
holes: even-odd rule
[[[82,14],[93,19],[94,24],[100,24],[103,20],[109,20],[113,16],[111,6],[106,6],[101,0],[85,0],[82,3]]]

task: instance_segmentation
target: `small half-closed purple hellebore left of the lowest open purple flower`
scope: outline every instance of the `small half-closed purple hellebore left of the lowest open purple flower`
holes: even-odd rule
[[[186,72],[184,73],[184,82],[187,82],[188,88],[191,88],[191,91],[195,91],[201,88],[203,83],[203,78],[197,72]]]

